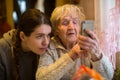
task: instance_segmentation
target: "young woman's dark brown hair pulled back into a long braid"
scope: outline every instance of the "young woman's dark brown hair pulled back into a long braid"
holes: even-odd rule
[[[49,18],[38,9],[28,9],[21,15],[17,26],[17,33],[13,46],[14,60],[17,69],[17,80],[19,80],[19,58],[22,54],[21,39],[19,36],[20,32],[23,31],[26,36],[30,36],[31,33],[35,30],[35,28],[37,28],[38,25],[41,24],[47,24],[51,26]]]

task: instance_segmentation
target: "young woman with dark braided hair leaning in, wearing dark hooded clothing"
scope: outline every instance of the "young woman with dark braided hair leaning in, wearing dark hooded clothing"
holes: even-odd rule
[[[11,33],[0,41],[0,80],[35,80],[38,55],[46,52],[50,41],[49,18],[29,9]]]

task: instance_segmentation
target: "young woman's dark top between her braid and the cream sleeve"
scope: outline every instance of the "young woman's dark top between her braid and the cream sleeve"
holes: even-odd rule
[[[37,69],[37,55],[32,52],[24,52],[19,58],[19,80],[35,80]]]

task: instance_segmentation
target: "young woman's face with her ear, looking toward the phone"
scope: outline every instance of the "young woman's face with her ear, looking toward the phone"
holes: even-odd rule
[[[21,38],[24,51],[32,51],[36,54],[44,54],[50,42],[51,27],[46,24],[39,25],[30,36],[23,33]]]

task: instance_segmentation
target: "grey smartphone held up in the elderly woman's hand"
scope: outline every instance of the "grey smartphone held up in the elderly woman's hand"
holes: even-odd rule
[[[82,22],[81,24],[81,34],[84,35],[84,36],[89,36],[86,32],[85,32],[85,29],[86,30],[91,30],[91,31],[94,31],[94,21],[93,20],[85,20]]]

